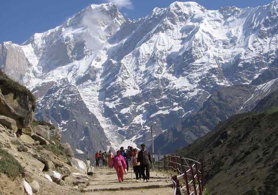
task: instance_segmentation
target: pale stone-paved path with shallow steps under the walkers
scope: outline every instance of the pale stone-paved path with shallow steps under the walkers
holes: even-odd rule
[[[96,168],[96,176],[84,189],[84,195],[161,195],[173,194],[173,183],[169,176],[160,172],[150,172],[150,182],[136,182],[133,174],[124,175],[124,182],[119,183],[115,169]]]

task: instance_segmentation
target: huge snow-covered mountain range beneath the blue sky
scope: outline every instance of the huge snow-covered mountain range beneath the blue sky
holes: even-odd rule
[[[174,2],[131,21],[115,4],[91,5],[22,45],[2,43],[0,67],[42,99],[66,78],[112,147],[150,145],[147,120],[158,136],[215,90],[249,84],[277,62],[277,11],[278,1],[219,10]]]

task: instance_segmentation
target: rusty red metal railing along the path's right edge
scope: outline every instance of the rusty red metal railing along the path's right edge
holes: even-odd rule
[[[172,176],[172,181],[175,186],[174,195],[180,195],[182,191],[186,191],[187,195],[202,195],[204,193],[203,162],[173,155],[164,155],[161,157],[158,155],[158,161],[154,165],[158,168],[158,171],[170,170],[179,174],[178,176]]]

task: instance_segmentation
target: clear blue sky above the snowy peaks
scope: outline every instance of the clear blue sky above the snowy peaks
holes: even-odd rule
[[[2,0],[0,6],[0,43],[23,43],[36,32],[61,25],[67,18],[90,4],[116,2],[120,12],[130,19],[150,14],[155,7],[167,7],[174,0]],[[272,0],[196,0],[208,10],[220,7],[255,7]]]

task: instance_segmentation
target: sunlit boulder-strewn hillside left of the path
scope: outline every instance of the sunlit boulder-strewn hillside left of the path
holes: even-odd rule
[[[34,120],[35,97],[0,71],[0,193],[80,194],[89,177],[61,129]]]

